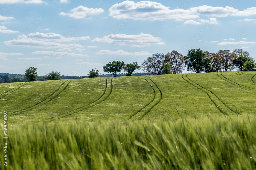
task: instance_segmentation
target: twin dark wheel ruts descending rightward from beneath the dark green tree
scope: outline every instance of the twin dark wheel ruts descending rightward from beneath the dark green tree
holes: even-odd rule
[[[186,79],[183,77],[184,75],[186,75],[186,78],[187,78],[188,80],[186,80]],[[236,113],[236,112],[234,112],[232,109],[230,109],[225,103],[223,103],[214,93],[212,93],[211,91],[207,90],[206,88],[200,86],[199,84],[193,82],[192,80],[190,80],[190,79],[187,77],[187,75],[188,75],[188,74],[183,74],[183,75],[182,75],[182,78],[183,78],[185,81],[187,81],[188,83],[190,83],[191,85],[193,85],[193,86],[195,86],[196,88],[198,88],[199,90],[204,91],[204,92],[208,95],[208,97],[210,98],[210,100],[214,103],[214,105],[215,105],[221,112],[224,112],[224,111],[217,105],[216,102],[214,102],[214,100],[213,100],[213,98],[210,96],[210,94],[212,94],[213,96],[215,96],[215,97],[218,99],[218,101],[220,101],[220,102],[221,102],[225,107],[227,107],[230,111],[232,111],[233,113]],[[189,82],[189,81],[191,81],[192,83]],[[193,83],[194,83],[194,84],[193,84]],[[197,86],[199,86],[199,87],[197,87],[195,84],[196,84]],[[227,112],[226,112],[225,114],[227,114]],[[229,114],[227,114],[227,115],[229,115]]]

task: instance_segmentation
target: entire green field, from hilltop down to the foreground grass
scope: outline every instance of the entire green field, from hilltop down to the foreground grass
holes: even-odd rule
[[[256,168],[253,71],[0,84],[2,139],[4,110],[6,169]]]

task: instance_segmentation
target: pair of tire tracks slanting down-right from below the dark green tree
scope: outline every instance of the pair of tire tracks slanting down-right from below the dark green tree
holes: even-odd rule
[[[226,115],[229,115],[229,114],[233,114],[233,113],[236,113],[234,112],[232,109],[230,109],[225,103],[223,103],[214,93],[212,93],[211,91],[205,89],[204,87],[200,86],[199,84],[193,82],[192,80],[190,80],[188,77],[187,77],[188,74],[183,74],[182,75],[182,78],[184,80],[186,80],[188,83],[190,83],[191,85],[195,86],[196,88],[204,91],[208,97],[211,99],[211,101],[214,103],[214,105],[221,111],[221,112],[224,112]],[[184,78],[186,77],[186,78]]]

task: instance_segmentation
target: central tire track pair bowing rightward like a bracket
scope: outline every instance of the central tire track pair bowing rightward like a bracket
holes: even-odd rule
[[[151,88],[154,90],[154,98],[153,100],[147,104],[145,107],[143,107],[141,110],[139,110],[137,113],[132,115],[128,120],[141,120],[151,109],[153,109],[162,99],[162,92],[157,87],[157,85],[151,80],[151,78],[145,77],[145,80],[147,83],[151,86]]]

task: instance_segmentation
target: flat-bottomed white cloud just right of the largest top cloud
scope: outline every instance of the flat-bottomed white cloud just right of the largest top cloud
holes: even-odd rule
[[[190,11],[196,13],[198,15],[202,14],[205,16],[212,16],[212,17],[227,17],[231,14],[238,12],[238,9],[234,9],[233,7],[226,6],[224,7],[212,7],[212,6],[199,6],[190,8]]]

